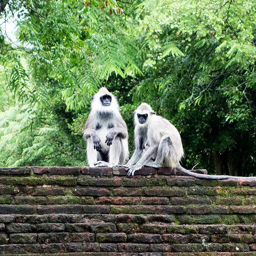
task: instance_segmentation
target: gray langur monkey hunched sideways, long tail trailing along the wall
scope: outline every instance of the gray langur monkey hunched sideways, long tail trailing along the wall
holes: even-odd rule
[[[184,169],[180,165],[180,160],[184,156],[180,133],[168,120],[155,115],[155,112],[146,103],[142,103],[134,111],[134,123],[136,148],[131,159],[125,165],[128,166],[127,177],[133,176],[134,172],[140,170],[143,166],[149,166],[175,168],[188,176],[196,178],[214,180],[227,178],[256,179],[256,177],[198,174]]]

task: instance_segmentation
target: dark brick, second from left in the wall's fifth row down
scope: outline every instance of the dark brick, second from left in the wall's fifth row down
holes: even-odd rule
[[[48,205],[48,206],[37,206],[36,212],[38,214],[82,214],[81,205]]]

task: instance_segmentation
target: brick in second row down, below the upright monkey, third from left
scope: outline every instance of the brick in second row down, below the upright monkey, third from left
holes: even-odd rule
[[[77,179],[77,184],[80,186],[122,186],[121,178],[98,178],[98,177],[81,177]]]

